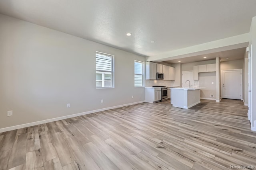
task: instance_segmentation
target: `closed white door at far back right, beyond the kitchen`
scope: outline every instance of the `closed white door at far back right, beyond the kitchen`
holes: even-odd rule
[[[242,71],[222,71],[222,98],[242,99]]]

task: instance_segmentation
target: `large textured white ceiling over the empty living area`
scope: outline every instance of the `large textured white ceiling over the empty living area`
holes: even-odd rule
[[[143,56],[248,33],[255,9],[256,0],[0,1],[1,14]]]

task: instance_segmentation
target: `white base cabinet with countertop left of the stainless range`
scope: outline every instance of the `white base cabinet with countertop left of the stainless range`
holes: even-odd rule
[[[161,101],[161,88],[145,88],[145,100],[149,103]]]

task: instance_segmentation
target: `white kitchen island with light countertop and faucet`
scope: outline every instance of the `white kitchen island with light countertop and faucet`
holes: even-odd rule
[[[174,107],[188,109],[200,103],[200,89],[202,87],[191,88],[170,88],[171,104]]]

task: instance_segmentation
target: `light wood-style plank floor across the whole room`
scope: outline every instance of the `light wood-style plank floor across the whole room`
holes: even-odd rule
[[[256,166],[239,100],[142,103],[0,133],[0,170],[226,170]]]

